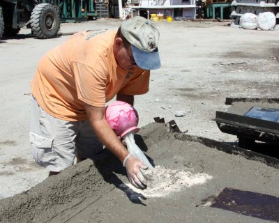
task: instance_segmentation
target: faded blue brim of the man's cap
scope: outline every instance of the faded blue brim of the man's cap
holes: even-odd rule
[[[131,48],[135,63],[137,63],[137,66],[139,68],[142,68],[144,70],[156,70],[160,68],[161,62],[158,48],[156,48],[153,52],[143,51],[132,44]]]

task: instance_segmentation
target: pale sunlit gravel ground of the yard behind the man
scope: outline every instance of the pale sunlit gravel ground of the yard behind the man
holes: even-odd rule
[[[61,33],[116,29],[121,21],[103,19],[61,24]],[[278,96],[278,31],[249,31],[228,22],[158,22],[162,68],[151,72],[150,91],[136,96],[140,127],[160,116],[174,119],[188,134],[236,141],[212,118],[225,111],[226,97]],[[31,157],[28,141],[30,80],[38,60],[68,36],[38,40],[22,29],[0,41],[0,199],[28,190],[47,178]],[[182,111],[185,116],[176,117]]]

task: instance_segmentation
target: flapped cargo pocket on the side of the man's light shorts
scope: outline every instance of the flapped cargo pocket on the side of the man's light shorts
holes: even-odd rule
[[[31,149],[33,158],[37,162],[53,162],[55,160],[52,151],[53,139],[44,137],[35,132],[29,132],[29,141],[31,142]]]

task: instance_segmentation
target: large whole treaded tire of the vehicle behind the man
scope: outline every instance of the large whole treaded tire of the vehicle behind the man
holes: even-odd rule
[[[41,3],[31,13],[31,29],[39,39],[54,38],[60,28],[59,12],[49,3]]]

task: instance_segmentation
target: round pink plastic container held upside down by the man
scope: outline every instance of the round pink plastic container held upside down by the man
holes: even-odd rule
[[[126,102],[116,100],[105,108],[105,119],[118,137],[128,132],[138,132],[139,116],[136,109]]]

